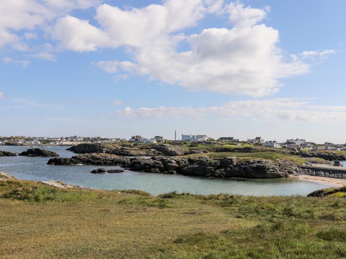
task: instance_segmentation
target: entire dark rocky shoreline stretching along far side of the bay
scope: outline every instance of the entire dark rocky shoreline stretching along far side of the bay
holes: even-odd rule
[[[55,157],[49,165],[104,165],[122,166],[132,171],[148,173],[181,174],[218,178],[283,178],[293,174],[297,165],[287,161],[254,159],[237,162],[235,157],[124,157],[106,153],[79,154],[71,158]]]

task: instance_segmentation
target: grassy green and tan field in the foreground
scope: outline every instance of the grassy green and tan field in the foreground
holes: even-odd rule
[[[0,181],[0,258],[345,258],[346,199]]]

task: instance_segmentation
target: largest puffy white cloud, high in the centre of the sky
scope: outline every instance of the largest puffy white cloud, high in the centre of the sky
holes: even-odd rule
[[[280,78],[309,71],[301,56],[288,60],[283,54],[277,30],[260,23],[269,10],[222,0],[166,0],[124,10],[101,4],[94,17],[99,27],[68,16],[59,19],[52,36],[79,52],[125,46],[131,61],[95,63],[107,73],[145,75],[190,91],[261,97],[277,92]],[[233,27],[185,33],[211,13],[227,14]],[[180,43],[188,47],[178,51]]]

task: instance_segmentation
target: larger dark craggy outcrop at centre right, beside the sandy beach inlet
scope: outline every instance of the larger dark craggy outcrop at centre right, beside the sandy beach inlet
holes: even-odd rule
[[[150,173],[178,173],[188,176],[238,177],[238,178],[281,178],[294,172],[295,165],[280,164],[257,159],[236,162],[235,157],[211,159],[152,157],[150,159],[132,158],[130,170]]]

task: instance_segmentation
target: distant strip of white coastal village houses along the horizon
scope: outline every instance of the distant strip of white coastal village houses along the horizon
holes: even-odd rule
[[[85,143],[116,143],[116,142],[130,142],[134,144],[155,144],[155,143],[165,143],[173,140],[169,140],[162,136],[155,136],[153,138],[142,137],[141,135],[131,136],[130,139],[121,139],[121,138],[101,138],[101,137],[28,137],[28,136],[10,136],[10,137],[1,137],[0,136],[0,145],[54,145],[54,146],[75,146],[78,144]],[[270,148],[287,148],[296,150],[298,152],[307,152],[315,150],[335,150],[335,151],[346,151],[346,144],[334,144],[325,142],[324,144],[316,144],[313,142],[306,141],[305,139],[287,139],[285,142],[278,142],[275,140],[265,140],[261,137],[256,137],[254,139],[240,140],[234,137],[219,137],[214,139],[209,137],[206,134],[181,134],[181,139],[178,140],[175,138],[174,141],[181,142],[196,142],[203,144],[216,144],[216,143],[232,143],[233,145],[243,146],[246,143],[259,145]]]

